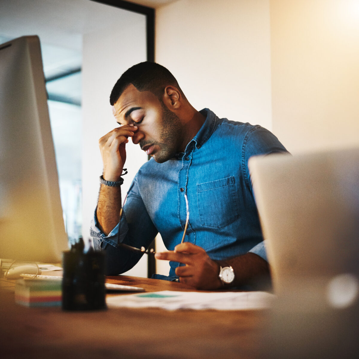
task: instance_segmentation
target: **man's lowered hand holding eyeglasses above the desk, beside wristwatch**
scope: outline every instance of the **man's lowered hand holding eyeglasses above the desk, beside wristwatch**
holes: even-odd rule
[[[156,253],[157,259],[180,262],[185,266],[176,268],[180,282],[196,289],[218,289],[222,286],[219,264],[211,260],[206,251],[192,243],[178,244],[174,251]]]

